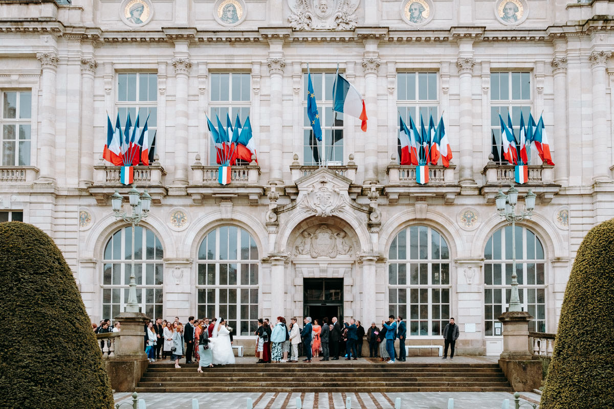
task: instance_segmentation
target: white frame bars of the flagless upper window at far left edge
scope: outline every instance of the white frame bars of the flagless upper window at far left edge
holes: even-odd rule
[[[5,118],[4,117],[4,95],[6,93],[15,93],[15,118]],[[29,118],[20,118],[21,113],[21,94],[29,93],[30,95],[30,106],[29,106]],[[0,166],[20,166],[20,167],[30,167],[32,165],[32,145],[33,145],[33,113],[34,113],[34,105],[33,105],[33,90],[32,88],[4,88],[0,90]],[[15,137],[14,139],[4,139],[4,127],[5,126],[15,126]],[[20,139],[20,130],[21,126],[29,126],[29,134],[26,139]],[[6,142],[14,142],[14,161],[12,164],[4,164],[4,143]],[[20,145],[21,142],[28,144],[28,163],[20,164]]]

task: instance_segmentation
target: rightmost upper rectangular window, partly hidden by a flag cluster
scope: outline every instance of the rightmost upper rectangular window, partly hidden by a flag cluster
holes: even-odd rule
[[[533,105],[530,92],[530,72],[492,72],[491,73],[491,134],[489,135],[491,153],[497,164],[505,164],[501,145],[501,126],[499,114],[508,124],[508,113],[514,128],[516,140],[520,140],[520,113],[527,125]],[[530,150],[527,149],[530,163]]]

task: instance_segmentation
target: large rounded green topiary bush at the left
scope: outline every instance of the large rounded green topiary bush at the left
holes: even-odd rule
[[[0,223],[0,408],[111,409],[72,272],[49,235]]]

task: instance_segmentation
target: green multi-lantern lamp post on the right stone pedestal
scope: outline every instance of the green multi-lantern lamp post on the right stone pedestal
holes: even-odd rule
[[[512,185],[504,194],[501,190],[495,196],[497,204],[497,213],[505,218],[507,223],[511,223],[511,253],[512,253],[512,270],[511,270],[511,296],[509,301],[508,311],[522,311],[520,297],[518,296],[518,275],[516,275],[516,222],[523,221],[525,218],[530,218],[533,215],[535,208],[535,193],[529,189],[529,192],[524,196],[524,204],[526,210],[516,214],[516,203],[518,202],[518,190]]]

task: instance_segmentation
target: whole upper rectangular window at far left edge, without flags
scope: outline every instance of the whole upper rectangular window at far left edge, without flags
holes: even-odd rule
[[[32,92],[2,92],[2,166],[29,166]]]

